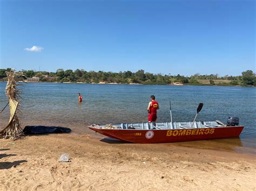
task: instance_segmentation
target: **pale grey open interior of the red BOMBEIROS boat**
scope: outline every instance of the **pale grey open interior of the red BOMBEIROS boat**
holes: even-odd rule
[[[193,125],[193,126],[192,126]],[[104,128],[106,126],[106,128]],[[226,126],[220,121],[211,122],[165,122],[165,123],[120,123],[110,125],[93,125],[98,129],[129,129],[129,130],[164,130],[164,129],[201,129],[220,128]],[[112,128],[111,128],[112,127]]]

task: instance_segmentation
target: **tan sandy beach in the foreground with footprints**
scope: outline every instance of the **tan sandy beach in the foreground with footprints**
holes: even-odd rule
[[[70,162],[59,162],[69,153]],[[91,135],[0,140],[1,190],[255,190],[255,156]]]

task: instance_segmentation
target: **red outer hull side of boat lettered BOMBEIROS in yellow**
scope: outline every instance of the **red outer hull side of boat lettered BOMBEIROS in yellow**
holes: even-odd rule
[[[89,127],[107,137],[131,143],[174,143],[239,137],[244,126],[223,126],[202,129],[127,130]]]

